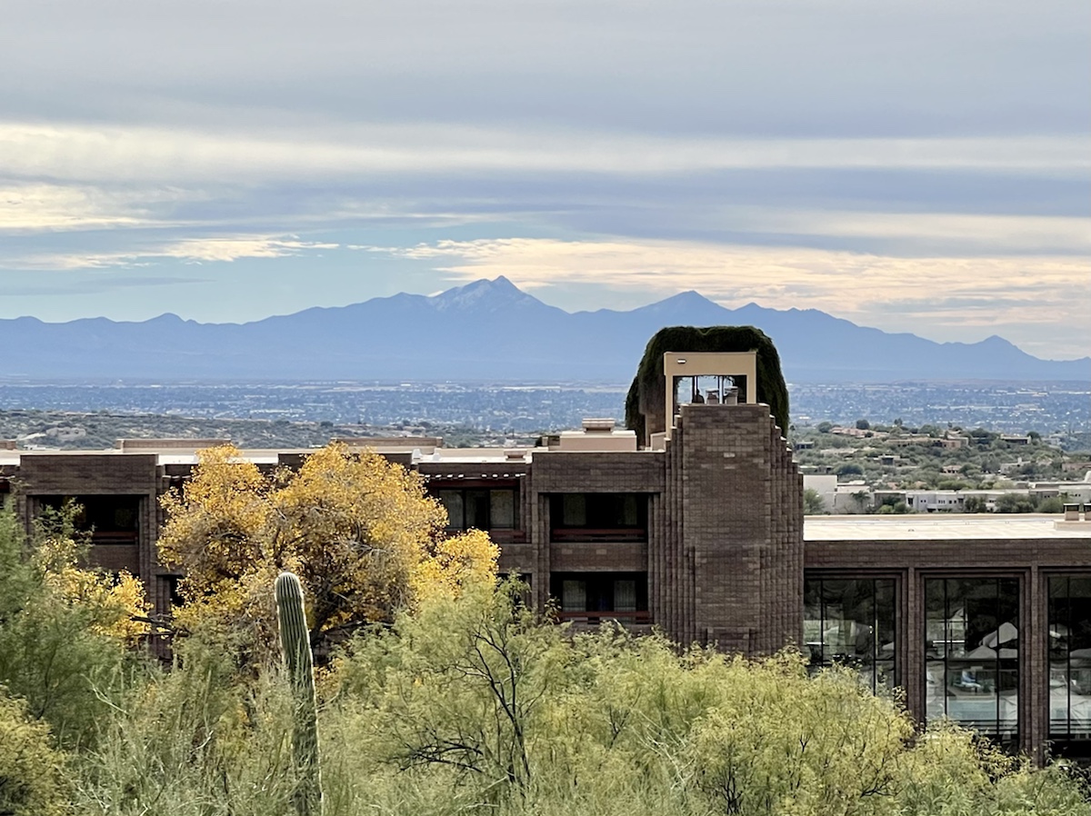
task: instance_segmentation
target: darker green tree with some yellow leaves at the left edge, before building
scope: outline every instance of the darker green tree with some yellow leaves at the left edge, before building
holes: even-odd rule
[[[31,545],[14,514],[0,512],[0,683],[64,745],[94,739],[147,614],[139,580],[77,565],[76,509],[44,513]]]

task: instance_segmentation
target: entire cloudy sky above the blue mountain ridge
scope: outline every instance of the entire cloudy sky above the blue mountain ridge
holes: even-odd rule
[[[0,317],[505,275],[1091,353],[1087,0],[4,0]]]

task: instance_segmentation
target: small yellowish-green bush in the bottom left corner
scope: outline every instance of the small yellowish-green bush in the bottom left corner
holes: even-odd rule
[[[49,727],[0,686],[0,814],[61,816],[68,809],[65,771]]]

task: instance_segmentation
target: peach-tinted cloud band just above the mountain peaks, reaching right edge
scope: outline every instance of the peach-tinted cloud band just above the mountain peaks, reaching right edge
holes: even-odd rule
[[[1004,325],[1017,327],[1010,339],[1024,343],[1060,326],[1079,327],[1066,351],[1082,356],[1091,346],[1091,264],[1078,255],[895,257],[694,241],[521,238],[440,241],[398,254],[432,260],[456,280],[505,275],[520,287],[595,285],[657,297],[696,289],[731,308],[815,308],[886,331],[921,333],[927,325],[927,336],[943,339]]]

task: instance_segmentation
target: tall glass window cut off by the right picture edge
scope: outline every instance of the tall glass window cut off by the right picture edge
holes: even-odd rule
[[[1091,751],[1089,576],[1050,578],[1050,740],[1058,753]]]

